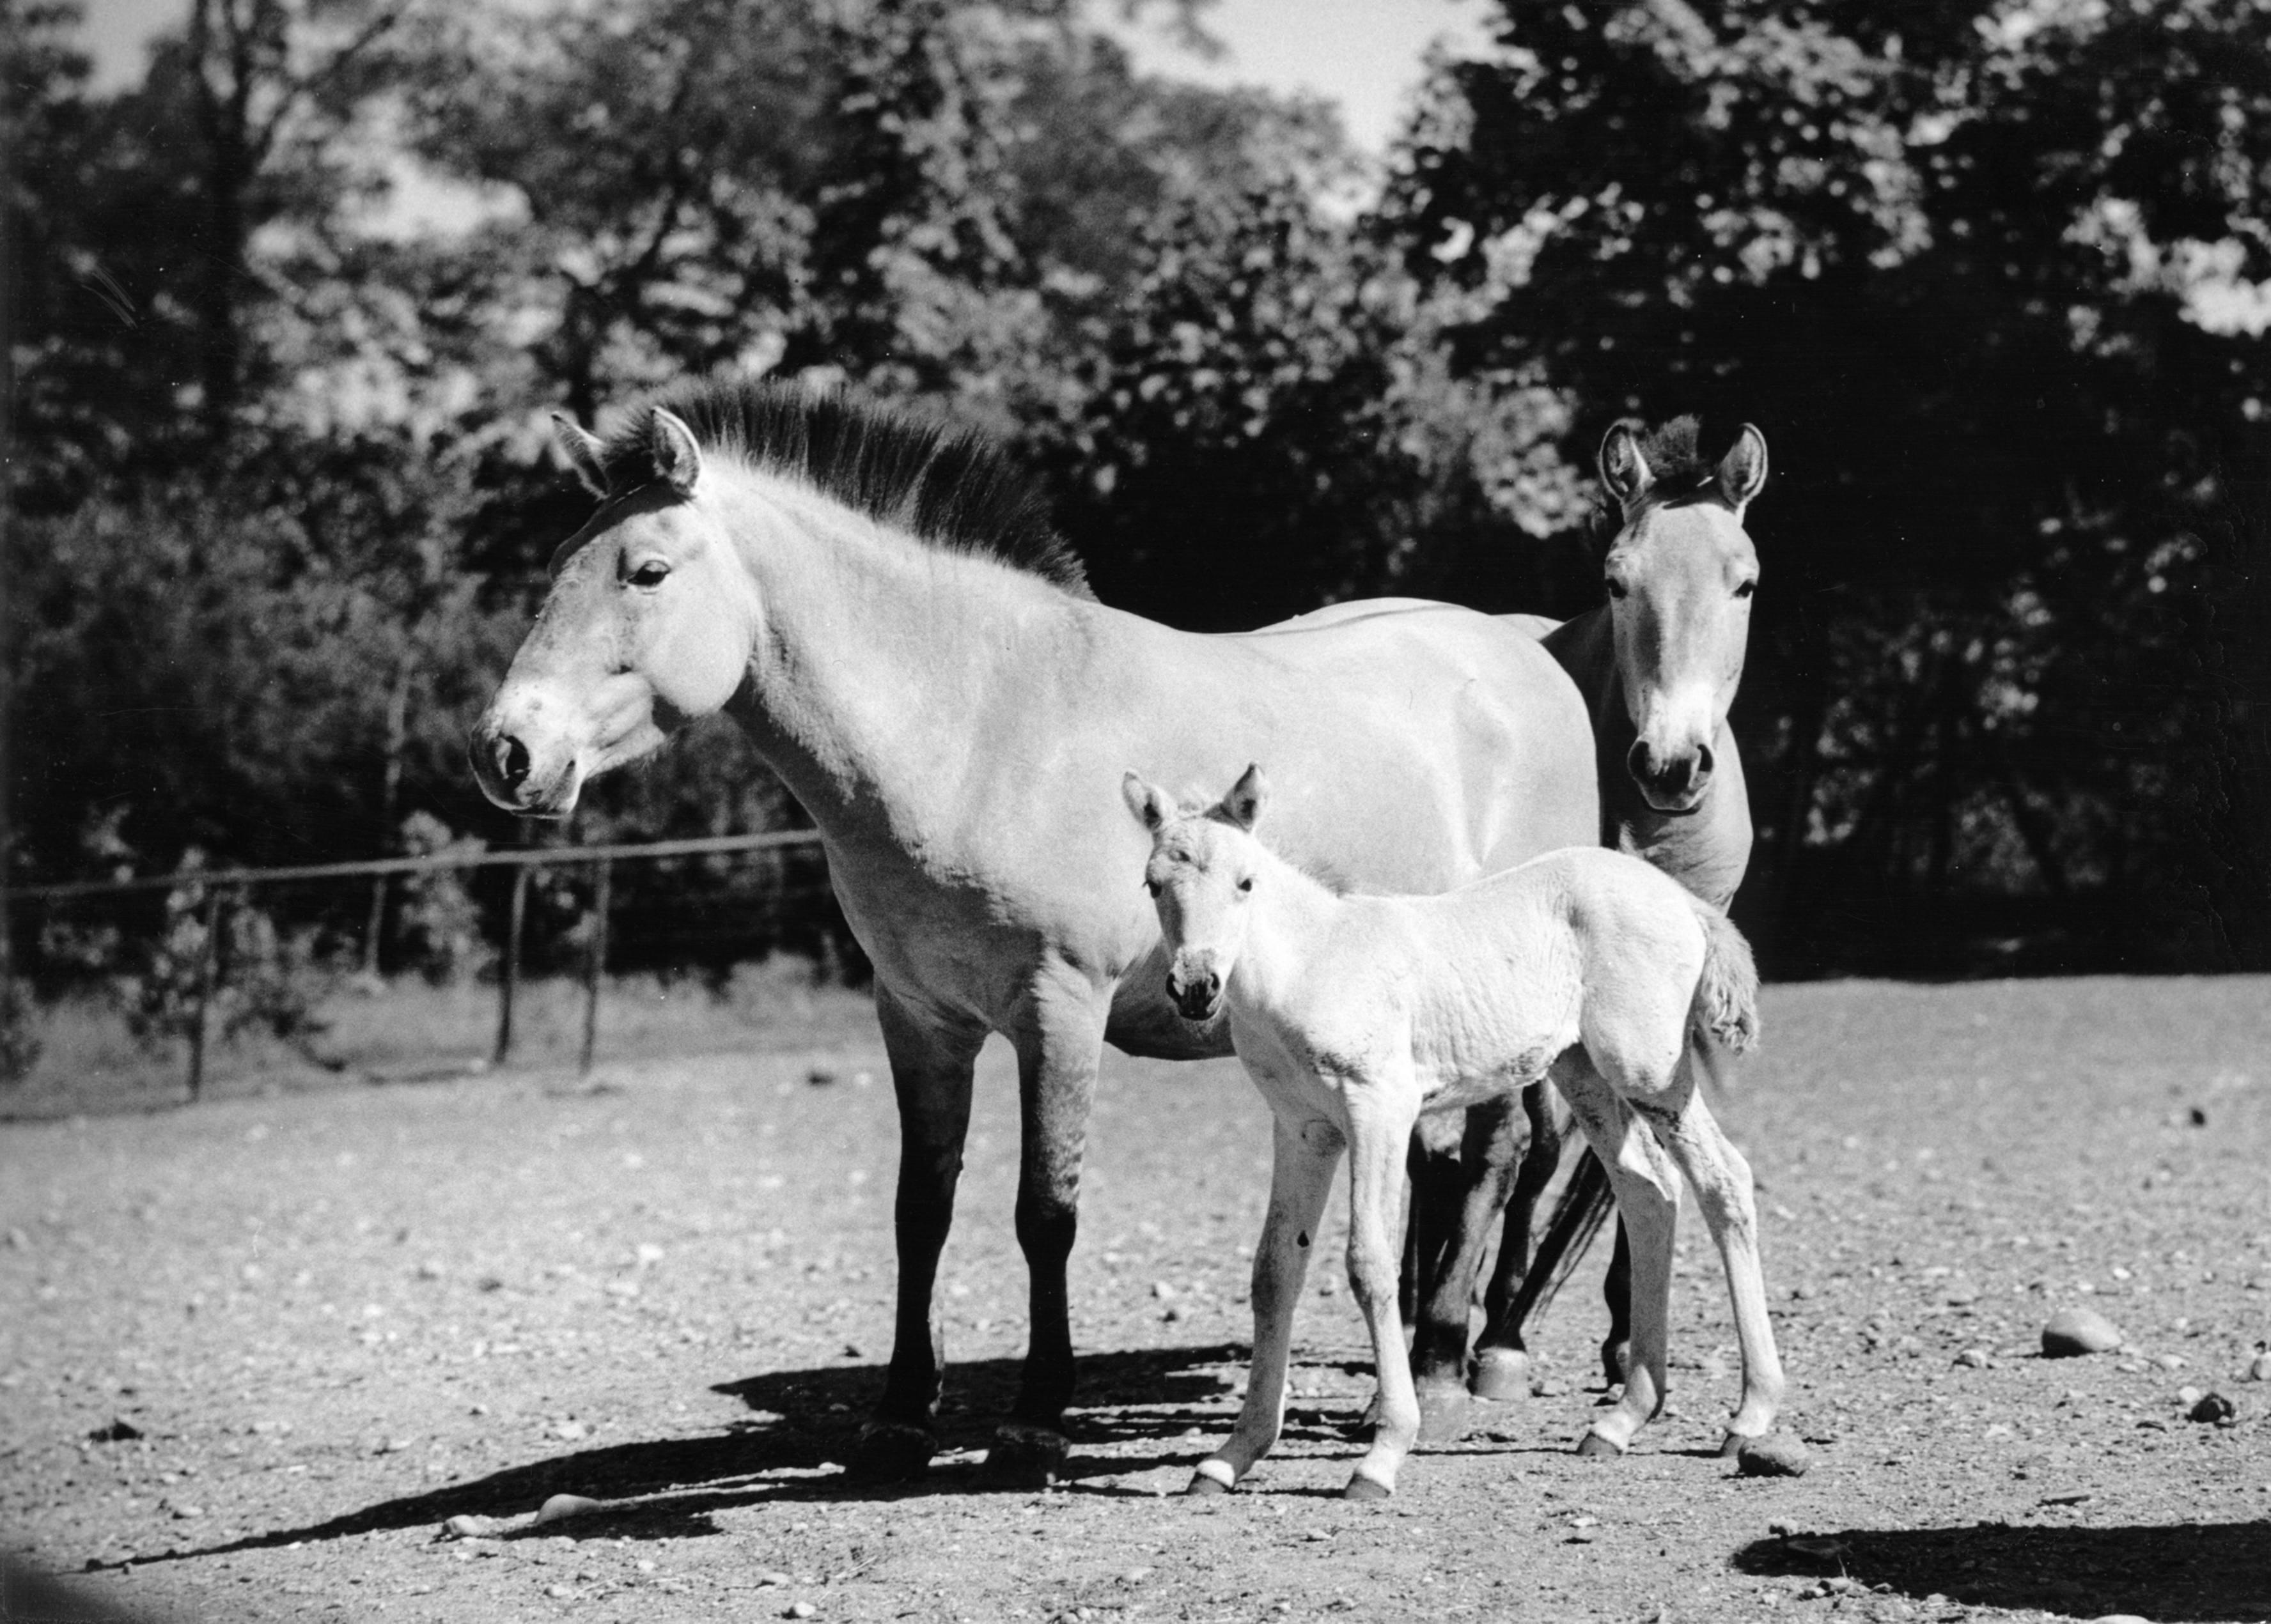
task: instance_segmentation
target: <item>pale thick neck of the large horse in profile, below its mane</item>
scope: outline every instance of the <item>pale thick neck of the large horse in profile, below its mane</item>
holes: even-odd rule
[[[759,591],[749,679],[727,706],[829,836],[920,840],[970,738],[1031,704],[1076,636],[1076,600],[986,559],[924,547],[759,475],[724,497]]]

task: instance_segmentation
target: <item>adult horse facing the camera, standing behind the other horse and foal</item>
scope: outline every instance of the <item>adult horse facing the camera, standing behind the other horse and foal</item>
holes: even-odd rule
[[[1767,484],[1767,441],[1742,425],[1715,463],[1696,447],[1696,420],[1651,434],[1619,422],[1601,441],[1601,486],[1621,516],[1601,572],[1608,602],[1567,622],[1508,616],[1533,631],[1576,681],[1592,718],[1601,788],[1601,845],[1646,859],[1703,902],[1726,909],[1751,861],[1751,800],[1726,713],[1742,684],[1751,636],[1758,550],[1744,511]],[[1506,1208],[1499,1261],[1483,1297],[1474,1392],[1528,1392],[1522,1322],[1572,1247],[1610,1206],[1608,1179],[1585,1156],[1569,1197],[1531,1258],[1531,1213],[1553,1177],[1560,1131],[1540,1090],[1524,1102],[1528,1149],[1503,1108],[1469,1115],[1463,1142],[1442,1127],[1415,1152],[1413,1220],[1419,1258],[1413,1379],[1428,1435],[1458,1431],[1467,1386],[1467,1320],[1490,1229]],[[1508,1190],[1508,1186],[1512,1186]],[[1510,1199],[1508,1199],[1510,1197]],[[1617,1252],[1603,1295],[1610,1331],[1601,1363],[1624,1379],[1631,1340],[1631,1249]]]

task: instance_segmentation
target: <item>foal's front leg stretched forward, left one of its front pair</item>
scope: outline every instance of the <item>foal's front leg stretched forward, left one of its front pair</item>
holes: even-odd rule
[[[1254,1247],[1254,1363],[1247,1401],[1229,1442],[1199,1463],[1185,1495],[1220,1495],[1269,1454],[1285,1426],[1285,1365],[1292,1358],[1292,1313],[1308,1279],[1317,1220],[1333,1192],[1340,1129],[1331,1122],[1276,1117],[1269,1167],[1269,1215]]]

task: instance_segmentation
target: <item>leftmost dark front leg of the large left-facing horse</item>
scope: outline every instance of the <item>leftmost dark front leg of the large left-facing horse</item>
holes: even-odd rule
[[[883,1401],[861,1429],[852,1474],[897,1483],[927,1472],[938,1449],[933,1424],[947,1349],[931,1292],[938,1254],[954,1224],[954,1186],[963,1177],[963,1138],[970,1133],[970,1068],[986,1031],[917,1018],[881,983],[874,1013],[899,1097],[899,1195],[893,1208],[899,1315]]]

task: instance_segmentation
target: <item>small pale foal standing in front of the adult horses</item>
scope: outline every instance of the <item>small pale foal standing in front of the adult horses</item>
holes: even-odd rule
[[[1258,768],[1206,811],[1181,811],[1133,772],[1124,793],[1151,831],[1145,888],[1170,952],[1167,995],[1185,1020],[1229,1008],[1238,1058],[1276,1117],[1247,1399],[1188,1492],[1229,1490],[1279,1438],[1292,1308],[1342,1147],[1349,1288],[1381,1383],[1381,1420],[1347,1497],[1394,1490],[1419,1433],[1397,1311],[1403,1147],[1422,1111],[1501,1099],[1549,1077],[1610,1170],[1633,1240],[1631,1374],[1578,1451],[1621,1454],[1662,1408],[1674,1163],[1696,1188],[1735,1299],[1742,1404],[1728,1442],[1774,1424],[1783,1365],[1751,1167],[1696,1093],[1690,1061],[1690,1036],[1740,1052],[1758,1033],[1751,949],[1717,909],[1601,847],[1549,852],[1440,897],[1335,895],[1254,838]]]

